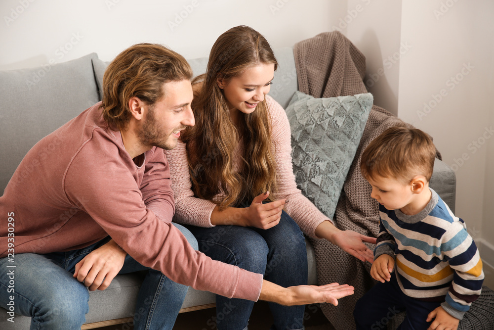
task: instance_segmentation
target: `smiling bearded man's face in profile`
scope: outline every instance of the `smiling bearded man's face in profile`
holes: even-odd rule
[[[142,145],[170,150],[177,145],[180,131],[195,124],[190,107],[193,94],[189,80],[165,83],[163,90],[165,96],[148,106],[137,133]]]

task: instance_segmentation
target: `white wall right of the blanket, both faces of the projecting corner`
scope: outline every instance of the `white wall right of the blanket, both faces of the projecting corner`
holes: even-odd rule
[[[456,174],[456,214],[493,244],[493,1],[349,0],[348,10],[358,5],[346,33],[367,56],[375,103],[434,138]]]

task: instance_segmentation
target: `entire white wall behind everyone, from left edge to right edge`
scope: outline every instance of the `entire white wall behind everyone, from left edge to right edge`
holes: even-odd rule
[[[240,24],[274,48],[341,30],[367,57],[375,103],[434,137],[456,170],[457,215],[474,237],[494,244],[494,139],[471,144],[494,124],[492,0],[2,0],[0,17],[0,70],[90,52],[111,60],[138,42],[202,57]],[[451,85],[457,74],[462,80]],[[434,105],[441,90],[425,113],[423,103]]]

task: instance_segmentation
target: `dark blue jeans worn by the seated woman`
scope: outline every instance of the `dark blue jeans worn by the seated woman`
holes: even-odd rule
[[[298,225],[283,211],[280,223],[262,230],[253,227],[187,226],[196,236],[199,250],[211,259],[264,274],[264,279],[288,287],[307,284],[307,251]],[[247,329],[253,301],[216,295],[219,330]],[[303,329],[305,306],[269,303],[274,318],[271,329]]]

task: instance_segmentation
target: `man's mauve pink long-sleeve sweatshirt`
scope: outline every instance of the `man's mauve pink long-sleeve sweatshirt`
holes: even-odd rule
[[[111,236],[174,282],[257,300],[261,274],[194,251],[171,225],[175,208],[163,149],[131,159],[100,105],[43,138],[18,166],[0,197],[0,257],[80,249]]]

